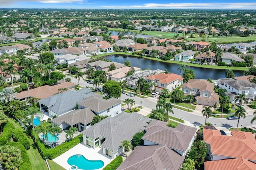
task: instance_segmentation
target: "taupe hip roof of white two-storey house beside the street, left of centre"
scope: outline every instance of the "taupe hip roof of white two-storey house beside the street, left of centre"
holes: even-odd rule
[[[104,111],[112,106],[115,106],[117,104],[121,104],[122,100],[116,99],[116,98],[110,98],[108,100],[103,99],[102,95],[94,95],[90,96],[88,98],[85,98],[84,101],[79,102],[78,105],[88,108],[96,113],[100,113],[101,111]]]

